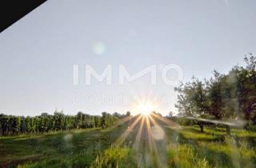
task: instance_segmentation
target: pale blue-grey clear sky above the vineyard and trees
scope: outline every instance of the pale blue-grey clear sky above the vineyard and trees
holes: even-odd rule
[[[256,50],[255,7],[254,0],[49,0],[0,34],[0,113],[126,113],[142,102],[177,112],[162,67],[177,65],[187,82],[243,65]],[[92,78],[87,86],[86,65],[99,74],[111,65],[111,85]],[[119,85],[119,65],[131,75],[155,65],[157,84],[146,74]]]

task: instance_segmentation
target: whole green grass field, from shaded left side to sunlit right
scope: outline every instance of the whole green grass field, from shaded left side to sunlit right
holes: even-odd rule
[[[0,167],[256,167],[256,132],[155,121],[0,137]]]

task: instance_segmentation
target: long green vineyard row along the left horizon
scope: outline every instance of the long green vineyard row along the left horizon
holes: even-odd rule
[[[34,117],[0,114],[0,134],[38,134],[57,130],[107,128],[113,126],[117,120],[116,116],[106,112],[103,112],[102,116],[82,112],[66,115],[57,110],[53,115],[42,113]]]

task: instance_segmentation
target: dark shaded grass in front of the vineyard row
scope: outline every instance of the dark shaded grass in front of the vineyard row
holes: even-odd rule
[[[78,155],[84,156],[84,160],[90,158],[88,162],[92,162],[98,152],[108,148],[125,128],[117,126],[107,130],[71,130],[57,134],[2,138],[0,167],[18,166],[26,162],[38,162],[39,165],[42,162],[43,165],[47,161],[54,162],[52,158],[58,158],[58,163],[66,159],[79,161]]]

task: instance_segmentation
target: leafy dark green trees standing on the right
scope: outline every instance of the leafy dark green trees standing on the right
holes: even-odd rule
[[[246,66],[234,66],[227,74],[214,70],[210,79],[193,77],[174,90],[178,92],[175,106],[185,117],[238,122],[246,121],[244,127],[256,125],[256,57],[244,58]],[[195,120],[203,132],[208,122]],[[226,126],[230,134],[230,125]]]

